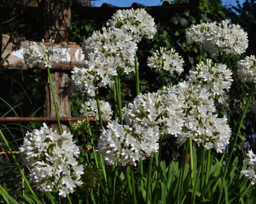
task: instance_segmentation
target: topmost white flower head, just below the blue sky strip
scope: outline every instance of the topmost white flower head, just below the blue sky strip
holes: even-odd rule
[[[120,28],[125,33],[131,35],[138,42],[141,38],[154,38],[157,32],[154,19],[145,9],[133,8],[127,10],[118,10],[113,14],[112,19],[106,25],[111,28]]]

